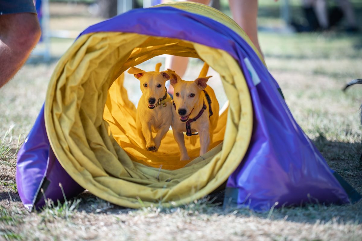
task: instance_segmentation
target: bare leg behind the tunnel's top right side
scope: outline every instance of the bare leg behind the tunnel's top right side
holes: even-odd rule
[[[258,40],[258,1],[257,0],[229,0],[232,18],[249,36],[254,46],[261,53]]]

